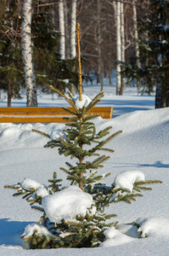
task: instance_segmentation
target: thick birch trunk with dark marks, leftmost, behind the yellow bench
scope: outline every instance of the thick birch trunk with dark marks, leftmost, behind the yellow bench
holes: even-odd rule
[[[37,107],[37,87],[31,49],[31,4],[32,0],[24,0],[21,43],[27,88],[27,107]]]

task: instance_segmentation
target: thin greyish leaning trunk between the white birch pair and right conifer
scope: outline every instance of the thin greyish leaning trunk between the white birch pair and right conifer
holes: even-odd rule
[[[140,68],[141,63],[139,61],[139,45],[138,45],[138,22],[137,22],[137,9],[136,9],[136,1],[132,0],[132,10],[133,10],[133,28],[134,28],[134,39],[135,39],[135,48],[136,48],[136,58],[137,58],[137,66]],[[141,90],[141,81],[137,82],[138,91]]]

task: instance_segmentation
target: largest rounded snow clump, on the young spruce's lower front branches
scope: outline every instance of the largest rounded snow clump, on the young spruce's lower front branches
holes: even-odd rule
[[[42,199],[42,207],[51,222],[60,223],[62,219],[72,221],[77,215],[84,217],[94,204],[92,195],[82,191],[76,186],[70,186],[54,195]],[[95,213],[95,207],[93,212]]]

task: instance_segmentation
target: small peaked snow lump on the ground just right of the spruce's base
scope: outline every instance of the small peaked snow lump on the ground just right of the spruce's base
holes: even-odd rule
[[[100,247],[114,247],[135,240],[135,238],[122,234],[119,230],[115,230],[114,227],[105,230],[104,236],[106,240]]]

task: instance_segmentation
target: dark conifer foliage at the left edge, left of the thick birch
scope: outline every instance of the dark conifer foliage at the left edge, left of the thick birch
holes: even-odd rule
[[[25,86],[20,47],[20,6],[14,1],[0,2],[0,89],[8,91],[8,106],[11,99],[20,98],[20,86]],[[8,29],[8,30],[7,30]]]

